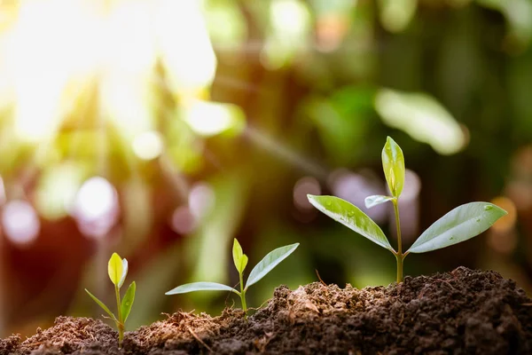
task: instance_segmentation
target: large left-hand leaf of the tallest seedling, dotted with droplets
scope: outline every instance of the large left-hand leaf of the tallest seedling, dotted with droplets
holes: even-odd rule
[[[379,244],[382,248],[387,248],[392,253],[395,253],[394,248],[387,241],[386,235],[384,235],[379,225],[353,204],[335,196],[314,196],[309,194],[308,198],[310,203],[325,213],[325,215],[370,241]]]

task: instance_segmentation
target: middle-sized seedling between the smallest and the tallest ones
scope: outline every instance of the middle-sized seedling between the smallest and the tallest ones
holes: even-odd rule
[[[295,250],[297,247],[299,247],[299,243],[286,245],[285,247],[277,248],[275,250],[270,251],[270,253],[268,253],[262,258],[259,264],[256,264],[254,266],[253,270],[249,273],[249,277],[247,278],[246,287],[244,287],[243,274],[244,269],[246,269],[247,265],[247,256],[242,251],[242,247],[240,247],[239,241],[235,239],[233,241],[232,255],[235,267],[239,272],[240,290],[216,282],[192,282],[169,290],[166,295],[185,294],[193,291],[231,291],[240,296],[240,300],[242,301],[242,309],[244,310],[244,312],[247,312],[247,288],[249,288],[251,285],[266,276],[268,272],[270,272],[280,262],[285,260],[286,257],[288,257],[290,254],[292,254],[293,250]]]

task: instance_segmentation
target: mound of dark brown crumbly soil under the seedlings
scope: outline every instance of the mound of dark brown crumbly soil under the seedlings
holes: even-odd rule
[[[176,312],[126,333],[120,350],[116,332],[88,318],[0,341],[0,355],[191,353],[532,354],[532,300],[497,272],[459,267],[386,288],[281,286],[247,319]]]

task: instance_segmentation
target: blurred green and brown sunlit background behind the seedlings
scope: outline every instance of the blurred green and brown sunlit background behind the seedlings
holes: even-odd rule
[[[380,150],[403,147],[408,248],[461,203],[509,215],[405,274],[495,269],[532,290],[532,3],[528,0],[25,0],[0,4],[0,335],[113,301],[129,260],[129,329],[161,312],[239,306],[236,285],[299,241],[248,293],[363,288],[395,258],[313,209],[385,193]],[[395,246],[390,206],[368,211]],[[389,227],[390,222],[391,228]]]

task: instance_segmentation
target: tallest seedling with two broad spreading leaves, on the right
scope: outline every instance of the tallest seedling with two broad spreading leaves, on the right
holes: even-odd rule
[[[387,138],[382,149],[382,168],[386,177],[391,196],[373,195],[366,197],[365,206],[370,209],[380,203],[391,201],[394,205],[395,226],[397,228],[397,251],[387,241],[386,235],[372,218],[364,214],[348,201],[334,196],[308,195],[310,203],[317,209],[348,226],[356,233],[387,248],[397,260],[397,282],[403,281],[403,260],[410,253],[425,253],[446,248],[461,241],[467,241],[486,231],[497,219],[505,216],[506,211],[488,202],[471,202],[452,209],[438,219],[415,241],[411,248],[403,253],[401,243],[401,225],[399,220],[398,201],[404,185],[404,157],[401,147],[394,139]]]

